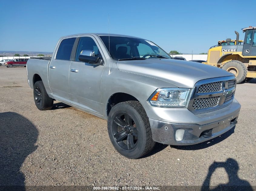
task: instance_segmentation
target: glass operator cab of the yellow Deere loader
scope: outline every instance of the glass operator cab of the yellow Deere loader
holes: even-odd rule
[[[256,27],[243,28],[244,46],[242,55],[243,56],[256,56]]]

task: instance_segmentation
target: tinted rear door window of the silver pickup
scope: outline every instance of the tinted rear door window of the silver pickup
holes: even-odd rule
[[[67,38],[62,40],[56,54],[56,59],[70,60],[74,43],[75,43],[75,38]]]

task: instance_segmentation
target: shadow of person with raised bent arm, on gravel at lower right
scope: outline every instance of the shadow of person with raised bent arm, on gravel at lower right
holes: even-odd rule
[[[217,187],[210,186],[211,175],[217,168],[223,167],[228,173],[227,184],[219,184]],[[236,191],[253,191],[250,183],[246,180],[242,180],[238,177],[238,162],[233,158],[228,158],[226,162],[215,162],[211,164],[208,170],[206,179],[204,180],[201,191],[224,191],[224,190],[236,190]],[[212,187],[212,189],[210,188]]]

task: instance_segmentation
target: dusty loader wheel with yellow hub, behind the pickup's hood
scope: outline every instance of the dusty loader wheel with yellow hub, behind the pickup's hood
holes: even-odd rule
[[[247,68],[243,64],[243,62],[237,61],[237,60],[231,60],[229,62],[226,62],[222,69],[231,72],[236,76],[237,83],[241,83],[244,81],[247,75]]]

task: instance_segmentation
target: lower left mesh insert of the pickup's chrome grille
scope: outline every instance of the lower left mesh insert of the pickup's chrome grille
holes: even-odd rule
[[[206,97],[206,98],[199,98],[195,99],[193,102],[193,108],[195,110],[208,108],[208,107],[215,107],[219,103],[220,97]]]

